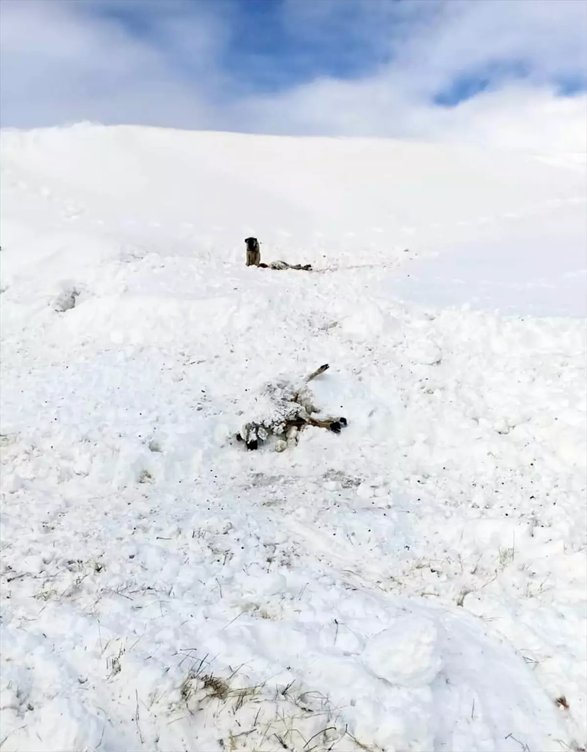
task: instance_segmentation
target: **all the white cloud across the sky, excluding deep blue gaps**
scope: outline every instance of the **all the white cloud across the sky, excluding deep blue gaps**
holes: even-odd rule
[[[555,96],[557,79],[584,75],[582,0],[288,0],[282,23],[294,38],[335,49],[349,34],[381,62],[359,79],[319,77],[265,96],[239,96],[220,65],[231,43],[228,5],[190,4],[186,14],[175,0],[138,4],[155,36],[99,12],[104,0],[2,0],[3,125],[99,120],[587,150],[587,99]],[[459,74],[499,61],[523,62],[528,77],[454,108],[433,104]]]

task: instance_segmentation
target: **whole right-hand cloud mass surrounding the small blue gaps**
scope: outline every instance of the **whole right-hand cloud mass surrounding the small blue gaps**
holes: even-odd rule
[[[266,132],[452,138],[533,150],[587,150],[585,95],[561,98],[553,83],[585,71],[587,3],[433,0],[363,7],[362,33],[372,29],[381,45],[381,26],[387,23],[385,28],[391,29],[391,61],[360,80],[321,78],[280,96],[252,98],[244,108],[250,127],[254,123]],[[292,13],[294,9],[294,23],[300,23],[296,2]],[[304,12],[307,16],[309,11]],[[317,21],[328,23],[328,14],[334,12],[336,4],[325,3]],[[439,108],[431,101],[456,75],[498,60],[524,61],[530,71],[527,80],[506,83],[454,108]]]

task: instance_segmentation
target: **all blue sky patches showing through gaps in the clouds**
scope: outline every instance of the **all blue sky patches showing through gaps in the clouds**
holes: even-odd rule
[[[296,10],[294,2],[304,11]],[[515,0],[490,2],[504,5]],[[555,2],[558,5],[560,0]],[[580,21],[585,17],[580,7],[583,0],[572,2]],[[411,9],[409,15],[404,8]],[[173,44],[158,32],[162,16],[175,17],[186,25],[197,25],[202,17],[215,20],[225,29],[225,44],[217,62],[245,92],[279,92],[316,77],[353,80],[371,74],[392,63],[395,52],[417,33],[419,23],[440,17],[443,8],[446,3],[435,0],[99,0],[88,4],[90,14],[116,20],[129,35],[159,47],[177,65],[178,73],[187,76],[197,56],[175,56]],[[298,23],[295,14],[301,16]],[[576,36],[579,45],[582,38],[585,45],[587,21],[583,28],[577,23],[568,33]],[[570,61],[568,70],[554,68],[546,78],[559,93],[574,94],[587,88],[586,66],[587,51],[583,60]],[[462,70],[434,92],[433,99],[455,105],[508,80],[524,80],[533,68],[532,53],[522,53],[518,58],[507,53],[489,54],[483,64],[468,67],[464,61]]]

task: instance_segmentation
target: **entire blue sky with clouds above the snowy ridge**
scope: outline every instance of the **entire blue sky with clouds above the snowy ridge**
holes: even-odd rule
[[[587,0],[0,0],[0,41],[2,126],[434,137],[587,87]]]

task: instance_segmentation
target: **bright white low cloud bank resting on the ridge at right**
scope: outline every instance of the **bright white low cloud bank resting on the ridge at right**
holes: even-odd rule
[[[587,98],[548,88],[508,86],[455,108],[405,99],[385,79],[321,80],[280,98],[242,107],[250,129],[301,135],[362,135],[452,140],[529,150],[587,151]]]

